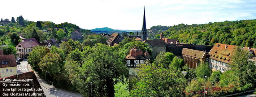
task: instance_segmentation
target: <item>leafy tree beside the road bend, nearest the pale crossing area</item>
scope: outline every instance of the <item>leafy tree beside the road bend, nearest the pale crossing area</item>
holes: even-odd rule
[[[31,65],[31,67],[35,71],[39,71],[38,64],[41,62],[41,59],[50,52],[48,47],[36,46],[33,48],[33,51],[29,53],[29,57],[27,58],[27,63]]]

